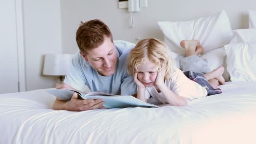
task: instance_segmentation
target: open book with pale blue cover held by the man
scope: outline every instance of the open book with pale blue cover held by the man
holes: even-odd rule
[[[131,95],[121,96],[103,92],[90,92],[83,94],[69,89],[51,89],[47,92],[64,101],[69,101],[72,98],[73,93],[77,93],[80,99],[102,99],[104,101],[103,106],[109,109],[125,107],[158,107],[154,104],[149,104],[136,99]]]

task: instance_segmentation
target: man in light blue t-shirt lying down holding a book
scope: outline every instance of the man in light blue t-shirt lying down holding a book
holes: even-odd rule
[[[112,33],[100,20],[81,22],[77,29],[76,41],[79,53],[72,59],[64,84],[56,88],[81,91],[85,85],[91,91],[101,91],[118,95],[136,92],[133,77],[127,73],[127,58],[133,43],[113,42]],[[101,99],[78,99],[76,93],[70,101],[56,99],[53,109],[84,111],[102,108]]]

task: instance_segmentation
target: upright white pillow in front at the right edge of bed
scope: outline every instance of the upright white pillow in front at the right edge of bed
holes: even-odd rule
[[[231,81],[256,80],[256,44],[225,45]]]

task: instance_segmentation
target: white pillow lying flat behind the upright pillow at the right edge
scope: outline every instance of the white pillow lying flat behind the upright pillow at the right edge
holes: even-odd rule
[[[230,43],[256,43],[256,29],[236,29]]]

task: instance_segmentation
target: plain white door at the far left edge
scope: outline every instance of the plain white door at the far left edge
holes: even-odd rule
[[[0,93],[18,92],[15,0],[0,0]]]

